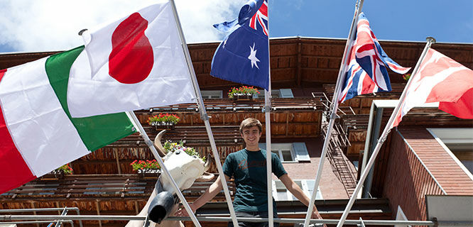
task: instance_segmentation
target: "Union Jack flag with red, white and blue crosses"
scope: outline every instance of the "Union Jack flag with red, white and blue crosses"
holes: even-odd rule
[[[391,82],[388,69],[405,74],[410,67],[402,67],[386,55],[376,36],[369,27],[369,21],[360,13],[357,23],[357,38],[354,40],[346,67],[344,85],[339,102],[361,94],[390,92]]]

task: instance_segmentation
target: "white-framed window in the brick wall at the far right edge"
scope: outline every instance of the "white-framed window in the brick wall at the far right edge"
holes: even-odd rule
[[[440,145],[473,179],[473,128],[428,128]]]

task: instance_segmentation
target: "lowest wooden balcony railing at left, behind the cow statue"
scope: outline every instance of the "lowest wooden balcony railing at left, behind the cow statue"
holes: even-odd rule
[[[214,177],[217,179],[217,177]],[[183,194],[188,201],[197,199],[214,182],[194,182]],[[147,199],[153,192],[158,175],[141,177],[128,175],[67,175],[62,179],[38,178],[21,187],[0,194],[0,201],[5,199]],[[233,181],[228,182],[231,194],[234,194]],[[224,201],[223,193],[215,201]],[[83,210],[80,208],[80,210]]]

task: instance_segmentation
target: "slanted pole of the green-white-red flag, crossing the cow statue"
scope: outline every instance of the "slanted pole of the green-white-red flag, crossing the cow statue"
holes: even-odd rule
[[[192,209],[190,209],[189,204],[187,204],[187,201],[185,200],[183,193],[180,192],[178,184],[176,184],[173,177],[170,175],[168,168],[165,167],[164,162],[161,159],[161,156],[159,156],[158,151],[154,147],[153,142],[149,139],[148,134],[146,134],[146,131],[144,130],[143,126],[141,126],[140,121],[138,120],[138,118],[136,118],[135,113],[133,111],[128,111],[126,112],[126,115],[130,118],[131,122],[133,122],[134,126],[138,129],[138,132],[140,133],[141,137],[145,141],[146,145],[148,145],[148,148],[151,149],[151,153],[153,153],[154,157],[156,157],[156,160],[158,160],[159,166],[161,166],[161,170],[163,170],[164,174],[170,179],[173,189],[175,189],[176,194],[178,194],[180,201],[183,202],[184,208],[187,211],[187,213],[190,215],[192,222],[194,223],[195,226],[200,226],[200,223],[199,221],[197,221],[197,218],[195,217],[194,212],[192,212]]]

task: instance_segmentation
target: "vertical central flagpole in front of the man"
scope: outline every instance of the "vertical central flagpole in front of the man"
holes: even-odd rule
[[[269,1],[268,1],[269,9]],[[269,10],[268,10],[268,90],[264,91],[264,118],[266,126],[266,185],[268,187],[268,226],[274,226],[273,219],[273,175],[271,165],[271,61],[269,52]]]

